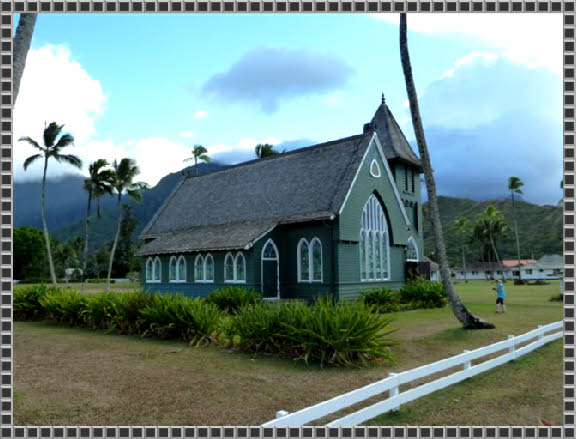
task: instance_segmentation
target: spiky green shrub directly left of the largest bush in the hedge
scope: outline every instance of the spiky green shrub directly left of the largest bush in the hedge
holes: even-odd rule
[[[191,345],[209,343],[220,326],[216,305],[180,294],[158,294],[141,310],[143,335],[182,339]]]

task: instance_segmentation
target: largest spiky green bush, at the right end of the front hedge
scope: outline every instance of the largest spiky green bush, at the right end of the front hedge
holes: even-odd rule
[[[225,327],[242,350],[287,356],[320,366],[366,366],[392,360],[390,319],[361,302],[313,306],[262,303],[239,310]]]

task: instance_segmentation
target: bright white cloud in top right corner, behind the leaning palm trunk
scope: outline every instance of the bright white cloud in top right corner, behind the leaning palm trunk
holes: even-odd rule
[[[398,24],[399,14],[374,14]],[[560,14],[409,14],[408,29],[426,34],[465,34],[499,49],[499,55],[529,67],[562,73]]]

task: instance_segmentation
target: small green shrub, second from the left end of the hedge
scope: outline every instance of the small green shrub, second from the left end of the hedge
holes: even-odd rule
[[[39,302],[47,318],[79,326],[84,319],[87,296],[74,290],[54,289],[41,297]]]

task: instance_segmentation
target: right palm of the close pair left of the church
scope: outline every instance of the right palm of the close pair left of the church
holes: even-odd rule
[[[134,182],[134,178],[140,174],[140,169],[136,165],[134,159],[124,158],[118,162],[114,160],[112,163],[112,188],[116,191],[117,195],[117,209],[118,209],[118,222],[116,226],[116,236],[110,250],[110,262],[108,265],[108,277],[106,278],[106,291],[110,291],[110,277],[112,276],[112,264],[114,262],[114,253],[118,245],[118,238],[120,236],[120,228],[122,227],[122,195],[126,192],[134,201],[140,202],[142,200],[142,189],[147,189],[149,186],[144,182]]]

